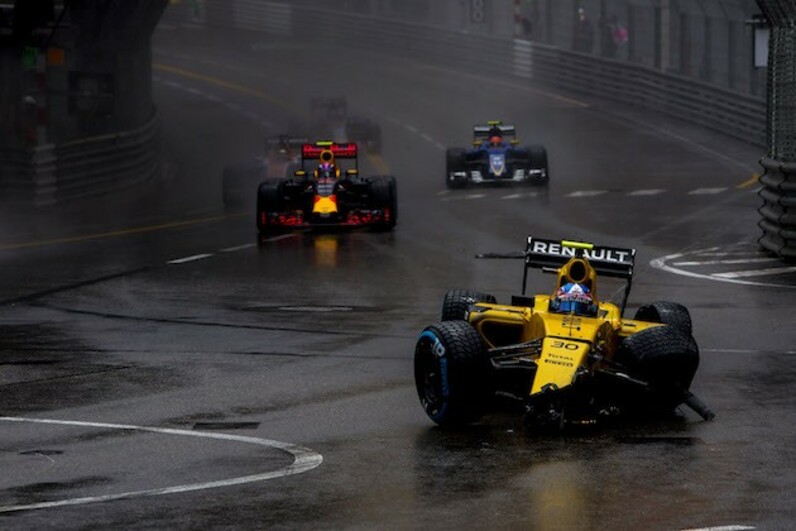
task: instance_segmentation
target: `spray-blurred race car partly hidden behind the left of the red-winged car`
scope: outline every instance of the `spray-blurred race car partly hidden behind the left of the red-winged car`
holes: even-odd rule
[[[265,155],[224,168],[221,190],[224,206],[242,205],[268,177],[289,177],[301,166],[301,146],[306,138],[276,135],[265,139]]]

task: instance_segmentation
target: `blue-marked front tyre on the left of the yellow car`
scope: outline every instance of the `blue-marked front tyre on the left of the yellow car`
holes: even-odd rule
[[[481,418],[489,401],[489,362],[478,332],[465,321],[426,327],[415,347],[415,385],[426,414],[441,426]]]

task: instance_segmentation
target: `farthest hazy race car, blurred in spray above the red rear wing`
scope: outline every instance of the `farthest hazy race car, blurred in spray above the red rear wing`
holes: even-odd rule
[[[354,142],[370,153],[381,152],[381,127],[364,116],[348,112],[344,97],[313,98],[310,101],[310,130],[335,142]]]

